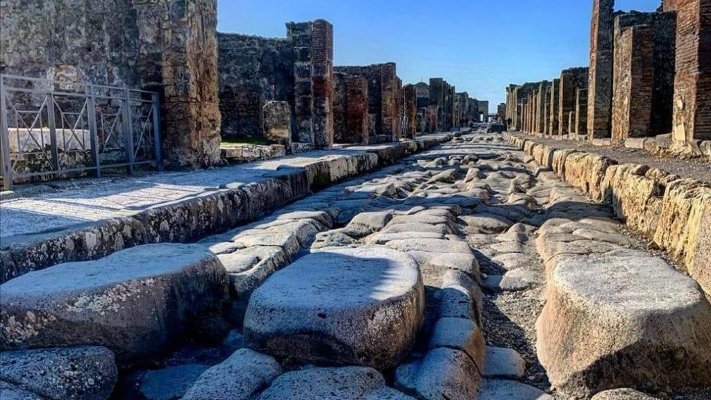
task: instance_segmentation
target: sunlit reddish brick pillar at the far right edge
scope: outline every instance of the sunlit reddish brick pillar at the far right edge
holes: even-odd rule
[[[678,0],[673,139],[711,140],[711,0]]]

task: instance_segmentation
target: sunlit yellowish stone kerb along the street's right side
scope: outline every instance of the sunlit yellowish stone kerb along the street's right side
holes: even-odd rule
[[[507,133],[506,140],[646,236],[711,296],[711,186],[643,164],[557,149]]]

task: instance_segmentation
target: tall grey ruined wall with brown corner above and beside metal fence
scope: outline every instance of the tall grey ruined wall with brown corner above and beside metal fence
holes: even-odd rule
[[[219,162],[215,0],[0,2],[4,73],[154,90],[169,166]]]

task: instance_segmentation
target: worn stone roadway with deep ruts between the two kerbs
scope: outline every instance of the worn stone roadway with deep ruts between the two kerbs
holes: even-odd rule
[[[225,269],[221,312],[188,313],[183,337],[119,366],[111,399],[707,393],[697,283],[501,135],[454,138],[198,246]],[[647,261],[599,262],[624,258]]]

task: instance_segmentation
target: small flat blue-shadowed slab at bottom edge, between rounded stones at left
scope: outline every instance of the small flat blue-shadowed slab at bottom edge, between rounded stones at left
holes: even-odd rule
[[[139,391],[147,400],[181,399],[209,365],[186,364],[146,372]]]

